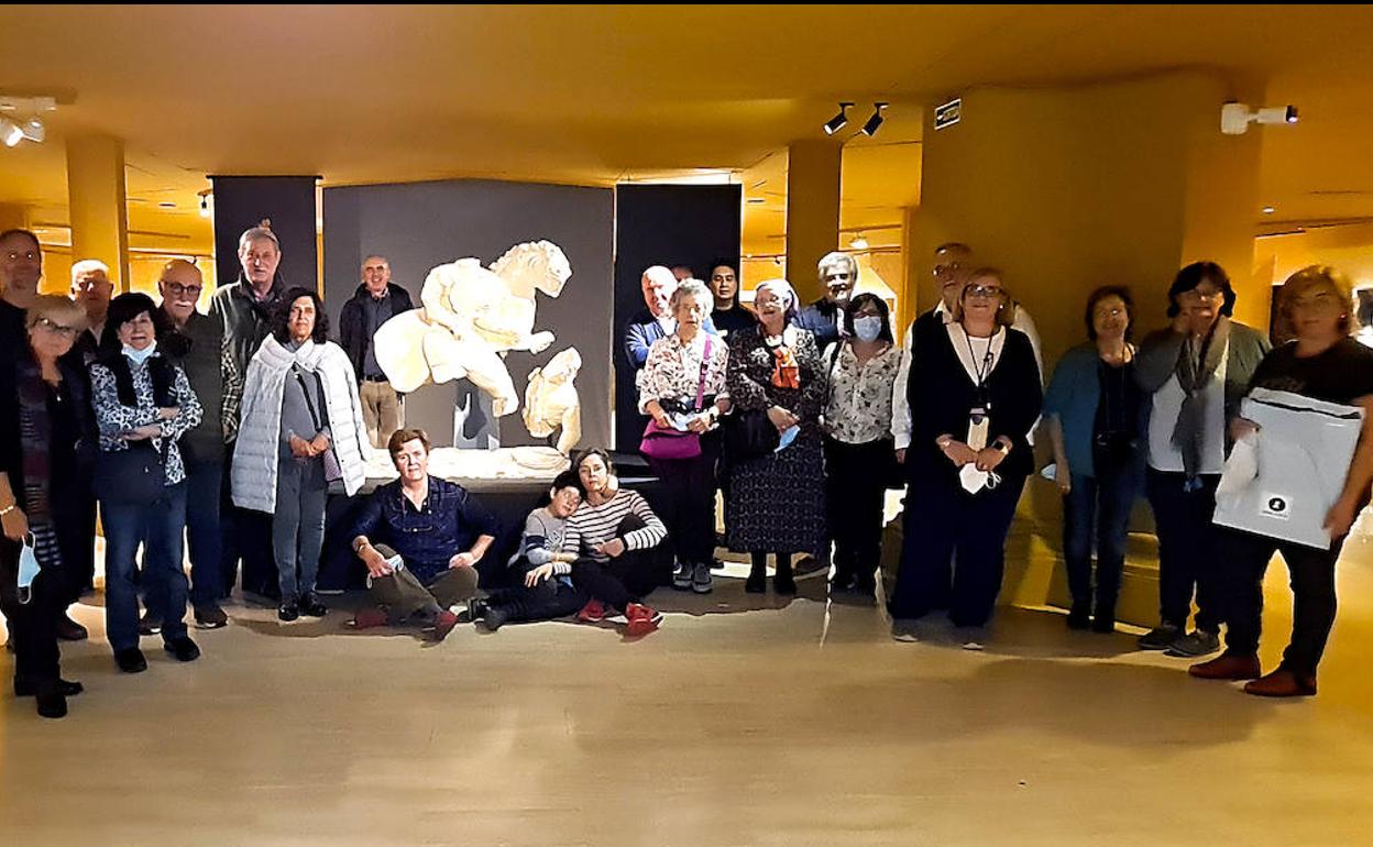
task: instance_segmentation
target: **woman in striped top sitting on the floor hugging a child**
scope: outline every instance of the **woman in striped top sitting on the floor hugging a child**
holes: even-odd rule
[[[582,452],[574,467],[586,498],[567,519],[562,549],[577,553],[573,585],[589,597],[577,618],[597,623],[608,607],[625,615],[626,634],[647,636],[662,615],[641,600],[659,583],[654,548],[667,530],[638,491],[619,486],[605,450]]]

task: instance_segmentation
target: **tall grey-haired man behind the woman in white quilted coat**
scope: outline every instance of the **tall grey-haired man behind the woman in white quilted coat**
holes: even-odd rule
[[[272,316],[286,297],[287,286],[277,276],[281,264],[281,243],[268,227],[253,227],[239,236],[239,279],[218,288],[210,301],[210,317],[224,328],[221,375],[224,394],[221,423],[225,443],[239,432],[239,406],[243,401],[243,378],[249,361],[262,345],[272,325]],[[203,405],[203,404],[202,404]],[[225,449],[222,478],[229,479],[233,450]],[[247,509],[238,509],[228,486],[221,489],[222,553],[220,575],[224,593],[233,590],[238,563],[243,559],[243,589],[254,594],[276,599],[276,563],[272,559],[269,518]]]

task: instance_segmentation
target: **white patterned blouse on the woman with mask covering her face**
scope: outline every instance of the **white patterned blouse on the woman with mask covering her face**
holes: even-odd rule
[[[838,361],[836,361],[838,356]],[[825,432],[844,443],[868,443],[891,435],[891,387],[901,367],[901,347],[886,350],[858,364],[853,345],[844,342],[825,351],[829,367],[829,402]]]

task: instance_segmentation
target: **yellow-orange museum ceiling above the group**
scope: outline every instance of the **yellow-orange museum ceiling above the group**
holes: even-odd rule
[[[892,103],[876,137],[846,147],[843,225],[880,228],[919,199],[920,103],[1178,67],[1218,67],[1300,107],[1297,126],[1265,133],[1273,220],[1373,217],[1368,5],[8,5],[3,19],[0,93],[73,102],[44,144],[0,148],[0,202],[65,221],[62,139],[113,133],[126,140],[130,229],[188,244],[209,242],[207,173],[327,185],[728,173],[766,246],[781,151],[817,136],[840,99],[859,103],[858,121]]]

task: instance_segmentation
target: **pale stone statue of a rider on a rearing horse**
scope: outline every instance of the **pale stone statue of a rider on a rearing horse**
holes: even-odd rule
[[[378,328],[376,362],[397,391],[467,378],[492,397],[497,417],[509,415],[519,394],[504,354],[553,343],[552,332],[534,332],[534,292],[557,297],[571,275],[552,242],[515,244],[490,268],[475,258],[439,265],[424,279],[423,306]]]

